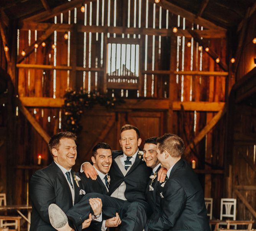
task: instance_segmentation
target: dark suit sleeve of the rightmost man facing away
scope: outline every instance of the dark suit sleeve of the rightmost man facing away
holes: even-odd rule
[[[145,231],[162,231],[173,227],[185,207],[187,197],[182,186],[175,179],[170,179],[166,184],[162,192],[164,201],[159,217],[149,219],[145,225]]]

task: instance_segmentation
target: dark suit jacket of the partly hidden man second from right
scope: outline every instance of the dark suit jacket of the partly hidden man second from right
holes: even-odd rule
[[[159,168],[157,169],[157,171],[155,171],[156,173],[158,173],[159,169],[161,168],[161,166],[159,166]],[[147,202],[149,203],[150,207],[152,208],[153,214],[151,215],[151,217],[155,216],[155,213],[159,213],[160,211],[160,197],[159,194],[161,190],[161,184],[159,181],[157,181],[157,176],[155,177],[153,183],[151,184],[152,179],[149,180],[149,183],[147,184],[147,188],[146,188],[146,198],[147,198]],[[151,185],[154,190],[149,190],[149,185]]]

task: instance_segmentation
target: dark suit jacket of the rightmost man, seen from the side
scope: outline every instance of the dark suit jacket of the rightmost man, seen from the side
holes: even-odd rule
[[[160,213],[147,221],[147,230],[210,231],[203,189],[197,175],[180,159],[162,187]]]

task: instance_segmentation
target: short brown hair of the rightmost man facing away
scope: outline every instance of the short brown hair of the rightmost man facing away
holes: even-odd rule
[[[157,138],[157,143],[159,143],[158,149],[160,153],[167,151],[172,157],[180,157],[184,152],[184,142],[177,135],[165,133]]]

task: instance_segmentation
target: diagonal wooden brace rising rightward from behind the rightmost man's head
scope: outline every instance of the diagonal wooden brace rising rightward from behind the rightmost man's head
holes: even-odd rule
[[[198,133],[198,135],[194,138],[193,142],[190,143],[184,151],[184,155],[188,155],[191,152],[191,149],[194,148],[194,145],[197,145],[205,135],[210,132],[211,129],[217,124],[217,122],[221,119],[221,117],[226,113],[226,107],[221,109],[213,119]]]

